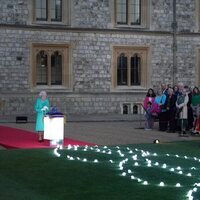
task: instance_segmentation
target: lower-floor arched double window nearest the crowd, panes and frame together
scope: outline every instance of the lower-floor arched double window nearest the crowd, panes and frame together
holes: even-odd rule
[[[114,47],[114,88],[146,87],[148,51],[148,47]]]

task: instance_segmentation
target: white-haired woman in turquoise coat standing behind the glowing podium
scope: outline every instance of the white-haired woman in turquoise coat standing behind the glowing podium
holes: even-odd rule
[[[39,97],[36,99],[34,110],[37,113],[35,130],[39,135],[39,142],[44,141],[44,115],[49,111],[49,100],[47,99],[47,93],[41,91]]]

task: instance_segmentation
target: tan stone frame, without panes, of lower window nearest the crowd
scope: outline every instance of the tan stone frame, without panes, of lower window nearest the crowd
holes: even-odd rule
[[[124,53],[128,58],[128,84],[117,84],[117,60],[120,54]],[[131,57],[139,55],[141,58],[141,80],[140,85],[131,85]],[[134,89],[146,89],[150,85],[151,66],[149,62],[150,47],[142,46],[113,46],[113,60],[112,60],[112,89],[114,91],[126,91]]]

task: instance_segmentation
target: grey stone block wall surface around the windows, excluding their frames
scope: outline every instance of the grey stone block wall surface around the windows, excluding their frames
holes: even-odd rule
[[[148,87],[156,88],[161,82],[172,82],[172,0],[150,1],[150,29],[126,29],[124,32],[122,29],[108,29],[112,28],[113,1],[72,1],[71,25],[78,30],[29,26],[28,2],[1,1],[0,24],[9,27],[0,25],[0,100],[5,101],[0,115],[34,115],[33,104],[39,91],[31,88],[32,43],[67,43],[72,46],[72,91],[47,91],[51,104],[64,113],[121,113],[121,103],[143,101],[148,88],[112,91],[113,46],[149,47],[148,65],[152,73],[148,74],[151,80]],[[178,30],[188,31],[188,35],[177,36],[176,80],[188,85],[195,85],[198,76],[196,65],[200,37],[190,34],[196,30],[195,2],[177,1]]]

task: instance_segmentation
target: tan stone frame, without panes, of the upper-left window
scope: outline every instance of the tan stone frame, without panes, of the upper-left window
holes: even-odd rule
[[[61,21],[52,21],[51,20],[51,0],[47,1],[47,20],[37,20],[36,19],[36,3],[35,0],[32,0],[32,22],[34,24],[51,24],[51,25],[70,25],[70,16],[71,16],[71,1],[62,0],[61,5]]]

